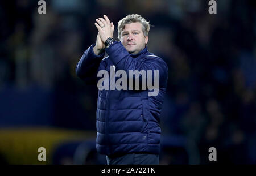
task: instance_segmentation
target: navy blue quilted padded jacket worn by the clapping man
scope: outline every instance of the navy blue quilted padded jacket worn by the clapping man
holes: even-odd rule
[[[113,155],[127,153],[160,153],[160,112],[166,93],[168,67],[163,59],[147,51],[145,47],[138,54],[131,55],[121,42],[115,41],[105,53],[95,55],[90,46],[76,66],[76,74],[86,83],[97,84],[99,70],[110,66],[117,70],[159,70],[159,93],[148,96],[146,91],[117,89],[99,90],[97,101],[97,143],[98,153]],[[127,74],[128,76],[128,74]],[[154,77],[153,77],[154,78]],[[117,78],[115,78],[117,80]],[[128,81],[127,81],[128,83]],[[154,79],[153,79],[154,83]],[[109,79],[110,84],[110,79]],[[152,84],[154,85],[154,84]]]

